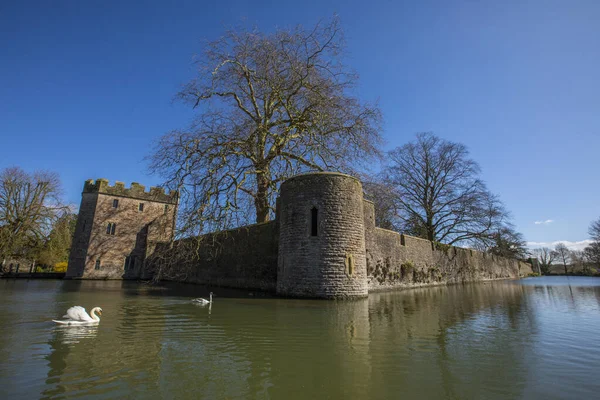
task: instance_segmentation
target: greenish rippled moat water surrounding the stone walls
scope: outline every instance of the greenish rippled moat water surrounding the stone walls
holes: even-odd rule
[[[589,399],[600,279],[348,302],[122,282],[0,281],[0,398]],[[97,327],[50,322],[73,305]]]

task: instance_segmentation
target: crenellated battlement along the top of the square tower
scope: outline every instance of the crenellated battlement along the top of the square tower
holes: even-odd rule
[[[116,181],[114,186],[110,186],[108,179],[99,178],[95,181],[88,179],[83,185],[83,193],[102,193],[111,196],[130,197],[140,200],[157,201],[161,203],[177,204],[179,193],[172,190],[165,193],[161,187],[150,187],[150,191],[146,191],[144,185],[137,182],[132,182],[129,188],[125,187],[123,182]]]

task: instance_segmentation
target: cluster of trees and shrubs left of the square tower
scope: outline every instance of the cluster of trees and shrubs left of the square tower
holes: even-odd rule
[[[77,215],[62,200],[58,175],[0,171],[0,272],[10,264],[66,268]]]

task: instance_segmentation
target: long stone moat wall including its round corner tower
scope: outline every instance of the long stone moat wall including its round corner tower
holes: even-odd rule
[[[351,176],[296,176],[281,187],[275,221],[178,241],[161,256],[168,261],[161,277],[289,297],[344,298],[532,272],[517,260],[377,228],[374,211]]]

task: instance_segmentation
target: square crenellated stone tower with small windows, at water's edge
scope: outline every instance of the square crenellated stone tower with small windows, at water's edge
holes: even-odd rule
[[[173,237],[177,192],[106,179],[83,186],[67,278],[140,278],[158,243]]]

